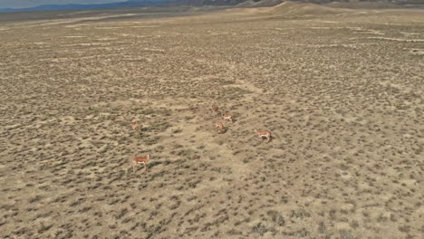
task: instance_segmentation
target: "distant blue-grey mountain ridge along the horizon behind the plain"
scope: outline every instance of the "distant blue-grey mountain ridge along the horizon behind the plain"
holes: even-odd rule
[[[292,2],[313,3],[313,4],[329,4],[329,3],[391,3],[397,5],[415,5],[424,4],[424,0],[291,0]],[[239,5],[246,6],[273,6],[285,2],[284,0],[129,0],[126,2],[116,2],[109,4],[95,5],[39,5],[27,8],[0,8],[0,13],[28,12],[28,11],[53,11],[53,10],[91,10],[91,9],[108,9],[121,7],[144,7],[152,5]]]

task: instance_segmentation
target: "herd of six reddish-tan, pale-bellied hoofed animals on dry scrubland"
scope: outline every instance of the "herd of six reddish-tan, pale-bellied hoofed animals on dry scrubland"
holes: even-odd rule
[[[233,123],[233,116],[230,114],[225,114],[225,113],[221,113],[218,112],[218,107],[217,106],[212,106],[209,108],[209,110],[212,110],[212,112],[215,112],[219,115],[221,115],[225,122],[226,121],[231,121],[231,123]],[[138,122],[131,122],[131,128],[132,129],[137,129],[139,127],[139,123]],[[221,121],[217,121],[217,124],[215,125],[215,129],[219,132],[219,133],[225,133],[226,132],[226,128],[224,127],[224,123],[222,123]],[[271,133],[269,131],[262,131],[262,130],[257,130],[255,129],[256,134],[259,136],[260,139],[267,139],[267,143],[271,140]],[[147,170],[147,163],[149,162],[150,159],[150,155],[148,155],[147,157],[136,157],[136,158],[132,158],[131,159],[131,163],[132,163],[132,171],[134,172],[136,167],[139,164],[144,165],[144,168]]]

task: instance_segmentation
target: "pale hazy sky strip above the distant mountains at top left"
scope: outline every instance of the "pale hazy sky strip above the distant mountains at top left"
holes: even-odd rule
[[[21,8],[37,5],[104,4],[126,0],[0,0],[0,8]]]

